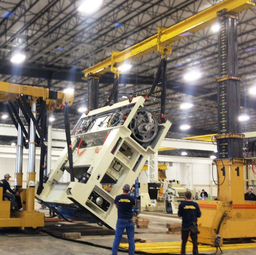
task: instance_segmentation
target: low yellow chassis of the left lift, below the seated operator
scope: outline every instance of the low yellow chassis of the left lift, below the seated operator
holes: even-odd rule
[[[44,214],[38,211],[24,211],[14,212],[11,218],[0,218],[0,228],[7,227],[20,227],[24,228],[37,228],[44,226]]]

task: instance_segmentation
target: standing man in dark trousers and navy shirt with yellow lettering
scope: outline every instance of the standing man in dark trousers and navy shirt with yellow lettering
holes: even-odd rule
[[[191,192],[184,193],[183,201],[179,205],[178,216],[182,217],[182,229],[181,229],[181,255],[185,255],[186,243],[188,241],[189,233],[193,243],[193,255],[198,255],[197,234],[199,234],[197,228],[197,218],[201,216],[201,211],[198,203],[191,201]]]

